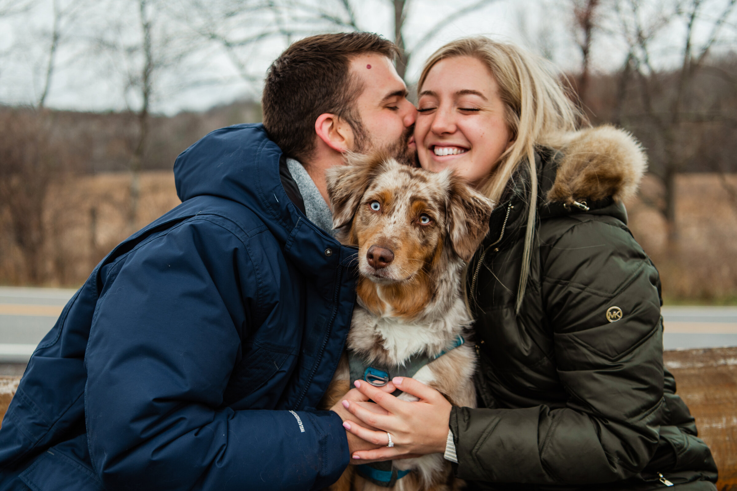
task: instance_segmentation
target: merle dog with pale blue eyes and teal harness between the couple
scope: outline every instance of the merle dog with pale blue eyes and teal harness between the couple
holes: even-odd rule
[[[404,376],[475,408],[464,271],[489,231],[492,202],[452,171],[435,174],[380,154],[351,155],[326,180],[338,238],[358,247],[359,278],[346,352],[323,407],[354,380],[380,386]],[[330,489],[450,491],[463,484],[440,453],[365,466],[349,466]]]

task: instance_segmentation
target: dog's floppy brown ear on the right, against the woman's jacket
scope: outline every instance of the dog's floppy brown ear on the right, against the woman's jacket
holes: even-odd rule
[[[489,233],[492,200],[470,188],[464,179],[449,174],[446,202],[448,237],[458,257],[468,262]]]

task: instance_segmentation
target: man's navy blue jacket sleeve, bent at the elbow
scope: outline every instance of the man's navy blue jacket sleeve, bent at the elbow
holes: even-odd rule
[[[105,275],[85,360],[105,489],[311,490],[340,476],[348,448],[335,413],[223,407],[259,301],[248,241],[195,219]]]

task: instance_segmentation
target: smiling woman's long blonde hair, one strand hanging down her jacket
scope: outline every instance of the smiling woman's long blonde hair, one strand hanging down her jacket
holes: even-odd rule
[[[445,58],[469,56],[484,63],[499,87],[499,96],[506,106],[506,123],[514,142],[499,157],[492,175],[480,191],[499,202],[514,171],[527,162],[530,174],[525,248],[517,288],[517,312],[527,287],[533,247],[537,210],[537,169],[535,147],[560,148],[565,134],[587,124],[576,107],[552,64],[513,44],[492,41],[483,36],[461,38],[438,49],[425,62],[417,84],[422,91],[427,74]]]

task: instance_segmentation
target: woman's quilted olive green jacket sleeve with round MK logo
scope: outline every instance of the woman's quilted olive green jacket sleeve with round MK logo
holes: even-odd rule
[[[565,407],[455,408],[458,477],[619,481],[643,470],[657,448],[663,404],[657,271],[621,222],[565,220],[559,236],[541,238],[547,245],[540,285]],[[621,318],[612,317],[618,311]]]

